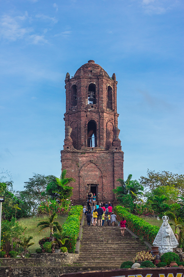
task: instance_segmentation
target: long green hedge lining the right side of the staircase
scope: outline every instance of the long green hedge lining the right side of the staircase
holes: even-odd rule
[[[118,205],[114,207],[114,212],[117,215],[117,220],[121,221],[122,217],[125,217],[125,220],[128,224],[128,228],[134,232],[139,237],[146,239],[151,244],[153,243],[157,233],[159,231],[159,227],[149,224],[145,222],[144,219],[139,218],[127,211],[127,209]]]

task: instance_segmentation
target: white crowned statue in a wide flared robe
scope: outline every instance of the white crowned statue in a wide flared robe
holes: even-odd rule
[[[168,223],[168,216],[163,216],[163,223],[154,239],[153,246],[159,246],[160,254],[173,252],[173,248],[178,246],[178,241],[173,233],[171,226]]]

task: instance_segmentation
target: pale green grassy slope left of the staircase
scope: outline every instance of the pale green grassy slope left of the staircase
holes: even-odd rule
[[[58,221],[59,224],[62,225],[66,221],[67,217],[68,217],[68,215],[58,216],[56,221]],[[36,227],[37,224],[40,221],[47,220],[48,218],[49,218],[48,215],[44,215],[42,217],[35,216],[35,217],[31,217],[31,218],[21,218],[19,220],[19,222],[22,225],[27,227],[27,229],[25,231],[26,235],[27,236],[33,236],[33,239],[30,242],[34,242],[34,244],[28,248],[30,253],[35,253],[36,248],[40,247],[40,245],[38,243],[40,239],[50,236],[50,229],[49,228],[46,228],[46,229],[42,230],[39,234],[38,233],[39,227],[38,228]]]

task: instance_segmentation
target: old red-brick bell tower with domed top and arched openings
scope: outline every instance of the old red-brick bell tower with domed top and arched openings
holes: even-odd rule
[[[114,201],[112,190],[123,179],[123,152],[119,139],[117,81],[93,60],[70,78],[66,74],[66,113],[62,169],[75,178],[72,200],[86,201],[88,192],[97,200]]]

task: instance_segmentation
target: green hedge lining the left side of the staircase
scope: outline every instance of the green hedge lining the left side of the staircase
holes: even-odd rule
[[[65,242],[65,246],[68,249],[68,253],[75,252],[75,244],[80,228],[80,221],[82,218],[83,206],[73,206],[68,213],[68,218],[63,223],[63,231],[66,232],[68,240]]]

